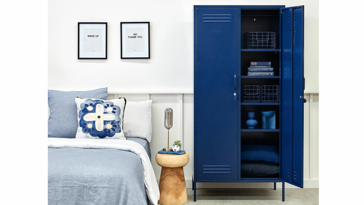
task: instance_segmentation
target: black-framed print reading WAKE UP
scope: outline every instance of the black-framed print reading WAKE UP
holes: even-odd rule
[[[107,59],[107,23],[78,23],[78,59]]]

